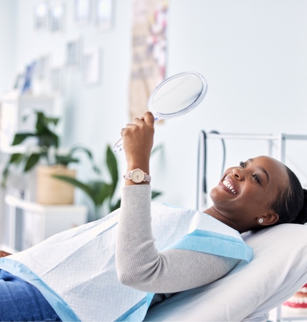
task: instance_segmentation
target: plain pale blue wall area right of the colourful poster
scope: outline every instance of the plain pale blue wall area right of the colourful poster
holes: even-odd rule
[[[192,70],[208,81],[203,103],[161,129],[167,137],[168,177],[163,187],[171,202],[194,206],[200,129],[307,133],[306,9],[305,1],[170,2],[168,75]],[[307,143],[290,143],[287,148],[307,172]],[[227,164],[232,166],[267,153],[267,144],[227,142],[227,150]],[[212,188],[220,178],[220,142],[209,142],[208,157]],[[296,172],[306,183],[307,177]]]

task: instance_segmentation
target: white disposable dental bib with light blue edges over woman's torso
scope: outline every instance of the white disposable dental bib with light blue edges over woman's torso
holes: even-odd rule
[[[0,259],[4,269],[36,286],[63,321],[142,321],[153,297],[122,285],[115,267],[120,209]],[[151,203],[159,251],[187,249],[250,261],[239,233],[202,212]]]

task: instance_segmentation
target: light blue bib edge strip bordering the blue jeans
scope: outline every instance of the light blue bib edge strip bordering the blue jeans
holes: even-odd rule
[[[62,321],[81,321],[71,307],[26,265],[9,258],[0,258],[0,268],[34,285]]]

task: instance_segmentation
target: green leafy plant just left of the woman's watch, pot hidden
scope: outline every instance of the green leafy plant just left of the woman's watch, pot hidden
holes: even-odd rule
[[[153,149],[152,153],[159,150],[161,147],[162,146],[158,146],[157,148]],[[95,180],[84,183],[70,176],[54,175],[55,178],[70,183],[70,185],[74,187],[80,188],[87,196],[91,198],[95,208],[95,220],[98,220],[108,213],[120,208],[121,199],[119,198],[114,200],[114,193],[119,179],[117,161],[112,149],[109,146],[107,146],[106,149],[105,160],[109,175],[111,177],[111,181],[109,182],[105,182],[104,180]],[[156,198],[161,194],[161,192],[152,191],[151,198]],[[105,207],[106,213],[101,214],[101,206],[104,203],[107,203]]]

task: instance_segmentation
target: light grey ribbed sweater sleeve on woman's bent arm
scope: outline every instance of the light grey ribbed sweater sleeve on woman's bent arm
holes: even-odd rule
[[[121,283],[150,293],[180,292],[226,275],[239,260],[199,251],[158,252],[151,232],[151,188],[124,187],[116,243],[116,269]]]

